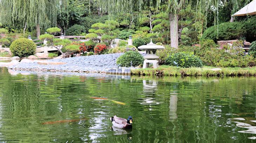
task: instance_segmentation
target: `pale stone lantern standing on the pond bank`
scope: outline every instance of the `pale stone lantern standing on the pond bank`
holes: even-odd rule
[[[144,56],[145,60],[143,62],[143,68],[148,68],[149,63],[153,63],[153,67],[157,68],[158,67],[157,59],[159,57],[156,55],[156,50],[164,49],[164,46],[156,45],[156,44],[152,43],[152,39],[151,39],[149,44],[139,46],[138,48],[140,50],[146,50],[146,55]]]

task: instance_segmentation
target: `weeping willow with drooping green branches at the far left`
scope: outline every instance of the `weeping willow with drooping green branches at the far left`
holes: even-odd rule
[[[24,28],[40,28],[56,25],[58,10],[67,0],[0,0],[0,20],[2,24]]]

